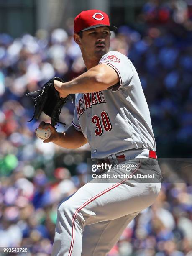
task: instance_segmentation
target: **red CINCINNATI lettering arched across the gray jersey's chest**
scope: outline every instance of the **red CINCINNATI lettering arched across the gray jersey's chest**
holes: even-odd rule
[[[103,104],[106,103],[104,99],[104,95],[102,91],[99,92],[91,92],[84,93],[83,97],[81,97],[76,105],[77,109],[77,118],[79,119],[80,115],[82,115],[87,108],[91,108],[92,105]]]

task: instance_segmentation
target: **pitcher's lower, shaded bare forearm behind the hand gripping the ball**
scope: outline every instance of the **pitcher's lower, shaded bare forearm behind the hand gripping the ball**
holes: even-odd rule
[[[87,139],[82,132],[75,130],[73,126],[70,126],[66,132],[58,133],[57,138],[52,142],[62,148],[75,149],[86,144]]]

